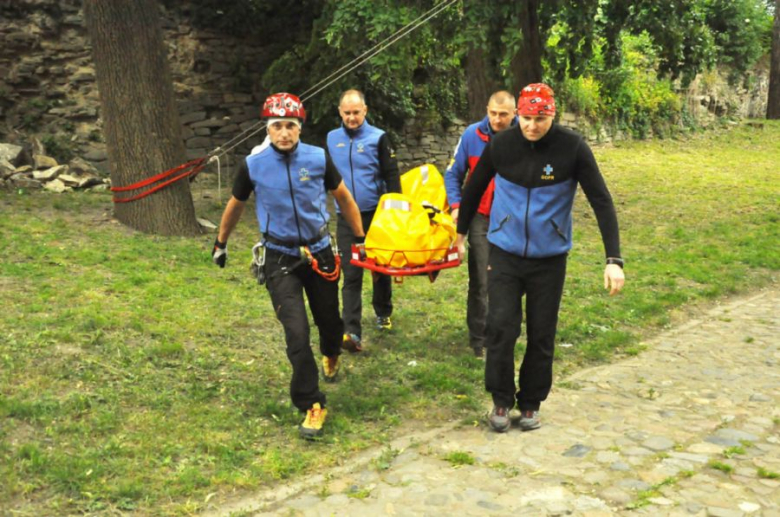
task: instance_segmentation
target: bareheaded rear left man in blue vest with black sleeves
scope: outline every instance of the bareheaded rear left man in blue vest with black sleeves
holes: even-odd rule
[[[347,90],[339,100],[342,126],[328,133],[328,153],[333,158],[347,189],[360,209],[363,228],[368,231],[379,198],[386,192],[401,192],[398,163],[387,133],[366,121],[366,99],[358,90]],[[350,352],[362,348],[363,269],[349,263],[354,233],[344,213],[337,208],[336,239],[344,268],[342,302],[344,308],[343,347]],[[374,277],[372,305],[380,330],[392,328],[392,282],[389,276]]]

